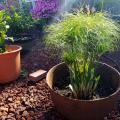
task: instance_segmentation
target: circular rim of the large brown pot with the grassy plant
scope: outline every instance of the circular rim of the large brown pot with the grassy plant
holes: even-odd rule
[[[110,69],[114,70],[119,76],[120,76],[120,72],[115,69],[114,67],[106,64],[106,63],[103,63],[103,62],[100,62],[102,65],[105,65],[107,67],[109,67]],[[62,62],[62,63],[59,63],[55,66],[53,66],[47,73],[47,76],[46,76],[46,82],[47,82],[47,79],[48,79],[48,76],[49,74],[51,73],[51,71],[53,71],[58,65],[62,65],[62,64],[65,64],[65,62]],[[48,85],[48,83],[47,83]],[[48,85],[49,86],[49,85]],[[97,98],[97,99],[90,99],[90,100],[81,100],[81,99],[76,99],[76,98],[69,98],[69,97],[65,97],[64,95],[60,95],[58,94],[57,92],[55,92],[50,86],[49,86],[49,89],[54,92],[55,94],[61,96],[61,97],[64,97],[65,99],[68,99],[68,100],[73,100],[73,101],[79,101],[79,102],[94,102],[94,101],[103,101],[105,99],[110,99],[111,97],[113,97],[114,95],[116,95],[117,93],[120,92],[120,83],[119,83],[119,86],[117,87],[116,91],[110,95],[108,95],[107,97],[102,97],[102,98]]]

